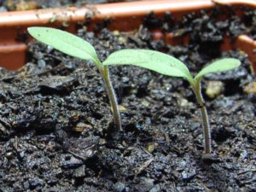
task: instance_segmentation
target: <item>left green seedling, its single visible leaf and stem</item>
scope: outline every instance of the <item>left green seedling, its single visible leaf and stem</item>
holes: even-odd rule
[[[29,27],[29,34],[38,41],[48,44],[61,52],[72,55],[85,61],[92,61],[102,75],[103,82],[106,85],[108,98],[113,111],[113,120],[117,131],[122,130],[118,102],[114,94],[113,86],[109,79],[108,66],[103,66],[96,55],[94,47],[82,38],[79,38],[69,32],[63,32],[49,27]]]

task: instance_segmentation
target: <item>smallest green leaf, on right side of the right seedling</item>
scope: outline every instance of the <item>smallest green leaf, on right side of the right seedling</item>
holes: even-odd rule
[[[218,73],[228,71],[230,69],[239,67],[241,62],[237,59],[233,58],[224,58],[218,61],[212,62],[207,67],[204,67],[200,73],[195,76],[195,79],[200,79],[202,76],[208,73]]]

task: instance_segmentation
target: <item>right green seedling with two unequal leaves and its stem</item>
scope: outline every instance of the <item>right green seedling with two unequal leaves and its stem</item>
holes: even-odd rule
[[[191,84],[192,90],[195,93],[196,101],[201,109],[202,126],[205,139],[205,153],[211,153],[211,129],[209,125],[207,108],[201,95],[201,78],[207,73],[218,73],[239,67],[241,62],[233,58],[224,58],[218,61],[213,61],[211,64],[204,67],[195,78],[189,73],[188,67],[182,62],[172,57],[154,50],[146,49],[122,49],[109,55],[103,61],[103,66],[109,65],[134,65],[143,67],[154,72],[180,77],[187,79]]]

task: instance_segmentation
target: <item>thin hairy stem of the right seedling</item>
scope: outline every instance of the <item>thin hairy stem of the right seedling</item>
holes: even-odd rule
[[[204,138],[205,138],[205,153],[211,154],[211,151],[212,151],[212,149],[211,149],[211,127],[209,124],[207,108],[205,106],[205,102],[201,95],[201,79],[199,79],[196,82],[195,88],[193,90],[195,92],[196,100],[201,109],[202,126],[203,126],[203,131],[204,131]]]

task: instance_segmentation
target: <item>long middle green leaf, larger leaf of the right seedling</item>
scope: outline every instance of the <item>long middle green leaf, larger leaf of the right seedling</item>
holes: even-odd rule
[[[122,49],[109,55],[103,65],[133,65],[150,69],[154,72],[194,80],[182,61],[171,55],[148,49]]]

